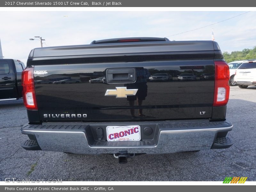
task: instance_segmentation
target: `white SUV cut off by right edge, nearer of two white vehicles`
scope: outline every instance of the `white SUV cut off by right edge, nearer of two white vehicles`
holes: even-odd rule
[[[234,81],[242,89],[249,85],[256,86],[256,60],[248,60],[242,63],[235,73]]]

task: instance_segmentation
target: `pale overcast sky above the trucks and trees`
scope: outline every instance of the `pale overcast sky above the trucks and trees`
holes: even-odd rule
[[[256,46],[256,12],[201,28],[243,12],[0,12],[0,39],[4,58],[26,63],[31,49],[40,41],[29,38],[42,36],[43,46],[90,44],[93,40],[118,37],[166,37],[170,40],[212,40],[222,52],[242,51]],[[188,30],[201,28],[188,33]]]

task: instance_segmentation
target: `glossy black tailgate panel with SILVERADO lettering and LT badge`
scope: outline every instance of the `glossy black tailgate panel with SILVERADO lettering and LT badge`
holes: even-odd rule
[[[45,62],[47,64],[49,61]],[[150,75],[167,73],[171,77],[159,81],[150,81],[147,77],[139,88],[136,82],[104,84],[95,80],[106,77],[108,68],[143,69]],[[213,59],[70,62],[34,67],[34,71],[41,70],[47,70],[47,74],[34,76],[35,82],[46,82],[35,84],[37,107],[42,121],[145,121],[209,119],[212,116],[214,79],[204,80],[200,76],[214,73]],[[179,80],[177,76],[182,73],[193,74],[196,79]],[[138,97],[135,96],[116,98],[116,95],[105,95],[107,90],[120,87],[126,87],[127,90],[142,89],[139,91],[142,104],[138,105]],[[136,118],[132,117],[133,109]],[[142,109],[145,116],[139,116],[139,109]]]

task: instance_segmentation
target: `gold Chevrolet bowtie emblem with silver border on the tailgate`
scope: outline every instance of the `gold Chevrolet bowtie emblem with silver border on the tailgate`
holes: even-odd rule
[[[127,95],[136,95],[138,89],[126,89],[126,87],[116,87],[108,89],[105,96],[116,96],[116,98],[127,98]]]

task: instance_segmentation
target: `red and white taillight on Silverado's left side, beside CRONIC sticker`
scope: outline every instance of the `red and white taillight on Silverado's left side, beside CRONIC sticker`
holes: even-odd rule
[[[22,71],[21,82],[23,86],[22,96],[27,109],[37,109],[34,86],[34,68],[26,68]]]

